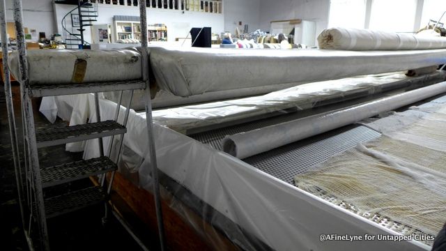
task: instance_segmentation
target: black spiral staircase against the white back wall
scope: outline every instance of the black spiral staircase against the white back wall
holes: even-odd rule
[[[67,49],[86,49],[90,43],[84,40],[85,27],[92,26],[97,21],[98,3],[79,0],[77,7],[70,10],[62,18],[63,38]]]

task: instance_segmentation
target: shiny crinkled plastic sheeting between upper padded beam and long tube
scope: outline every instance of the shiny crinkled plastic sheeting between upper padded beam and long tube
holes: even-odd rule
[[[394,73],[315,82],[259,97],[160,109],[153,112],[153,119],[162,126],[178,132],[187,132],[194,128],[233,123],[285,109],[310,109],[321,104],[328,105],[401,86],[424,86],[444,79],[445,73],[439,71],[420,77],[406,77]]]

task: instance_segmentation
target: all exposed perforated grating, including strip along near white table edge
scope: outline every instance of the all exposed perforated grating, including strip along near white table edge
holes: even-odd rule
[[[283,118],[279,118],[279,120],[284,121]],[[213,148],[220,150],[220,142],[225,135],[268,126],[268,123],[277,123],[277,118],[275,118],[275,121],[247,123],[242,126],[232,126],[221,130],[203,132],[192,135],[191,137],[205,144],[210,144]],[[351,125],[309,139],[304,139],[300,142],[282,146],[266,153],[260,153],[259,155],[246,158],[243,161],[263,172],[285,181],[286,183],[294,184],[293,180],[296,174],[306,172],[307,170],[312,169],[312,167],[316,167],[316,165],[325,162],[333,155],[352,149],[359,142],[368,142],[380,137],[380,135],[380,132],[376,132],[365,126]],[[405,236],[428,236],[420,229],[401,224],[401,222],[394,221],[385,215],[380,215],[378,213],[370,214],[362,211],[361,208],[357,208],[353,204],[348,204],[323,191],[317,196],[326,201],[330,201],[341,208],[345,208],[348,211],[367,218],[368,220],[376,222],[383,227],[392,229],[399,234]],[[433,236],[430,236],[430,238],[433,238]],[[433,244],[433,241],[430,240],[420,241],[427,245]]]

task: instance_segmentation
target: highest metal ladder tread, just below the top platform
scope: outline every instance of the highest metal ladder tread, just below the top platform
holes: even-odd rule
[[[56,146],[87,139],[123,134],[127,129],[116,121],[101,121],[77,126],[47,126],[36,130],[37,147]]]

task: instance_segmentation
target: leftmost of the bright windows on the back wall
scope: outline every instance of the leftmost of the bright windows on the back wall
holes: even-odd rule
[[[331,0],[328,26],[364,28],[366,0]]]

